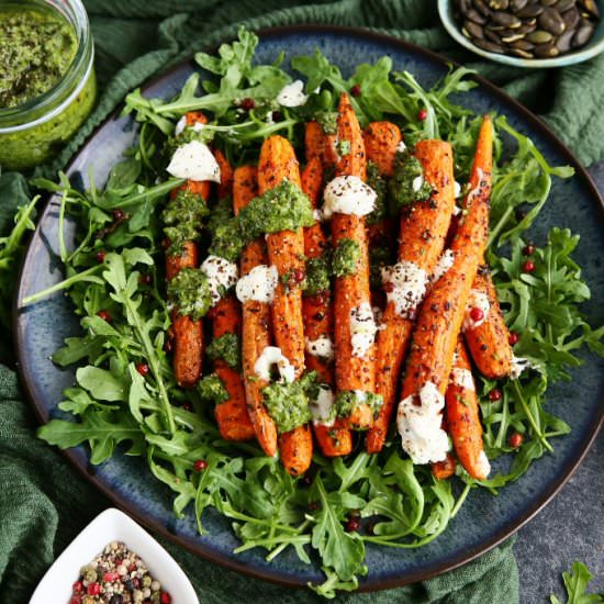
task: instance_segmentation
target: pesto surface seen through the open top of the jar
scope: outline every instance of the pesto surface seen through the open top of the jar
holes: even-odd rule
[[[0,5],[0,108],[16,107],[56,86],[78,49],[58,11]]]

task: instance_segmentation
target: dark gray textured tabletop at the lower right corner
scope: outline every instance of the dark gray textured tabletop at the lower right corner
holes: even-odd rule
[[[604,193],[604,161],[590,172]],[[594,574],[591,591],[604,591],[604,432],[558,496],[518,532],[515,552],[521,604],[545,604],[550,593],[561,596],[561,573],[574,560]]]

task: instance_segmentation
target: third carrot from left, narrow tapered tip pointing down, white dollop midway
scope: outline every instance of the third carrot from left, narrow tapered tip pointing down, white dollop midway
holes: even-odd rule
[[[247,205],[258,194],[257,170],[251,166],[236,168],[233,175],[233,205],[235,213]],[[249,243],[242,253],[241,275],[267,264],[265,243],[261,239]],[[256,376],[254,366],[270,346],[270,306],[249,300],[243,303],[242,366],[247,412],[254,426],[256,438],[266,452],[272,457],[277,452],[277,426],[262,402],[262,388],[268,383]]]

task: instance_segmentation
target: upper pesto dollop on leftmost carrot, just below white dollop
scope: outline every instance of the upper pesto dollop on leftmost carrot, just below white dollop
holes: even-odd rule
[[[168,254],[177,256],[182,254],[184,242],[199,239],[203,227],[203,219],[210,211],[205,200],[187,190],[178,191],[175,199],[161,212],[161,220],[166,224],[164,233],[170,241]]]

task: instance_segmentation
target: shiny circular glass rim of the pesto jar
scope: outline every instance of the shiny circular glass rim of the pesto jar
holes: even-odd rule
[[[55,86],[24,103],[0,109],[0,133],[26,130],[51,120],[77,97],[92,69],[94,55],[92,35],[88,14],[81,0],[63,0],[61,2],[43,0],[42,3],[51,10],[59,12],[74,26],[78,48],[67,71]],[[83,77],[82,71],[85,72]],[[29,115],[32,111],[40,113],[40,118],[32,120]],[[9,121],[11,125],[2,125],[4,121]]]

